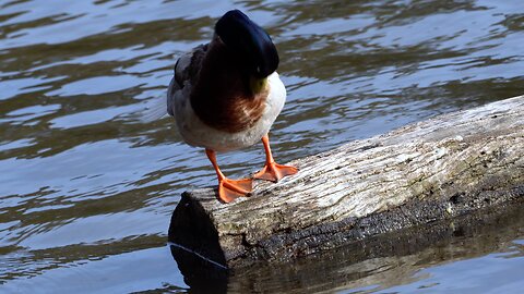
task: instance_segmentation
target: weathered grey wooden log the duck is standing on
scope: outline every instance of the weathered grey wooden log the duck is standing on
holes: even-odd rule
[[[187,192],[169,240],[224,267],[289,260],[524,196],[524,96],[298,159],[224,205]],[[520,201],[520,204],[522,204]]]

